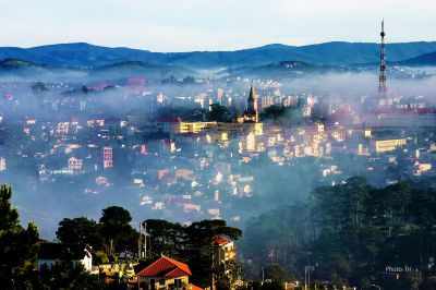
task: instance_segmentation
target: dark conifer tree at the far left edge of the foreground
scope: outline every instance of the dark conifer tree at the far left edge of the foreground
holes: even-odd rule
[[[38,230],[33,222],[20,226],[19,212],[11,206],[12,189],[0,188],[0,285],[4,289],[28,288],[38,251]]]

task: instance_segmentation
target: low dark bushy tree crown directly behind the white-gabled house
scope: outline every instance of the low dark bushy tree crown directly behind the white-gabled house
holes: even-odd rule
[[[97,222],[86,217],[62,219],[56,237],[64,244],[89,244],[92,246],[101,244]]]

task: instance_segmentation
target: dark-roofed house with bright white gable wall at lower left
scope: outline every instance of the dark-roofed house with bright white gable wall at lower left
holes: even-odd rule
[[[93,249],[89,245],[41,243],[38,253],[38,269],[44,265],[51,268],[63,258],[71,258],[74,266],[82,264],[85,270],[93,270]]]

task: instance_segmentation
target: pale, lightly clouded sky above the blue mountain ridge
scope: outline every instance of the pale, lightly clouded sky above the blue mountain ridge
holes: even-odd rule
[[[0,46],[152,51],[436,40],[434,0],[0,0]]]

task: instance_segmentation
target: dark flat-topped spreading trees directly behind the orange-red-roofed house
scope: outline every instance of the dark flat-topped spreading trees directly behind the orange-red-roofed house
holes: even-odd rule
[[[169,255],[190,265],[193,274],[192,281],[203,287],[210,286],[214,273],[219,277],[217,287],[228,289],[241,275],[241,267],[233,262],[226,265],[213,263],[213,242],[216,237],[238,240],[242,231],[227,226],[226,220],[201,220],[189,227],[166,220],[147,219],[149,254],[157,256]],[[227,273],[225,275],[225,273]]]

